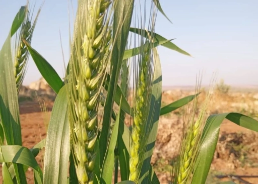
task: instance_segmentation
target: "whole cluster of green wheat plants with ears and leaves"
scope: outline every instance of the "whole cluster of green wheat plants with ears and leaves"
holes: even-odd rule
[[[64,80],[32,48],[37,16],[32,23],[27,10],[21,7],[0,50],[3,183],[27,183],[28,167],[34,183],[160,183],[151,165],[159,118],[191,101],[193,112],[184,121],[168,182],[206,182],[224,119],[258,131],[256,120],[239,113],[209,115],[212,93],[198,114],[200,85],[196,94],[161,108],[162,63],[156,47],[190,54],[155,33],[157,14],[168,19],[158,0],[78,0]],[[17,94],[28,53],[57,94],[47,136],[30,149],[22,146]],[[41,150],[43,168],[35,159]]]

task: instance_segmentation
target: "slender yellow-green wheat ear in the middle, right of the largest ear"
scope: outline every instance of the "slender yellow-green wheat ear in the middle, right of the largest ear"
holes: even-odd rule
[[[140,54],[138,60],[134,63],[135,66],[135,97],[134,97],[134,123],[131,131],[130,145],[130,175],[129,180],[136,183],[139,182],[141,168],[146,151],[148,135],[146,131],[148,127],[148,116],[151,100],[151,89],[153,79],[153,31],[155,23],[155,13],[151,13],[149,31],[142,30],[139,35],[142,35],[140,40]],[[153,19],[153,20],[152,20]],[[152,21],[152,22],[151,22]],[[144,38],[144,34],[149,33],[149,37]],[[147,131],[148,132],[148,131]]]

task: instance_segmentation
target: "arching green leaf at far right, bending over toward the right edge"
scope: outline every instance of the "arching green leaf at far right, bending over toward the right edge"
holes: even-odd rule
[[[197,165],[193,174],[192,183],[205,183],[215,148],[218,142],[220,125],[224,119],[228,119],[233,123],[244,128],[258,132],[258,121],[238,113],[224,113],[211,115],[205,125],[202,137],[202,147],[197,159]]]

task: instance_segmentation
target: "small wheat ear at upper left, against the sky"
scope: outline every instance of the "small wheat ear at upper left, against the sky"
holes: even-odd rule
[[[17,87],[18,93],[21,88],[22,82],[24,80],[25,73],[27,70],[27,64],[29,60],[29,52],[23,40],[31,44],[33,32],[41,10],[41,7],[40,7],[34,21],[32,21],[33,11],[32,13],[30,13],[28,11],[28,7],[29,7],[29,4],[27,4],[26,6],[25,19],[21,25],[20,31],[17,33],[16,40],[15,40],[16,50],[14,53],[14,75],[16,78],[16,87]]]

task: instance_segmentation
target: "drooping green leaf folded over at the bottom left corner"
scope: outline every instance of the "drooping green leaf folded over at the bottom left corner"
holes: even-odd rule
[[[43,176],[36,159],[28,148],[19,145],[4,145],[1,146],[1,149],[2,155],[0,156],[0,162],[20,163],[27,165]]]

